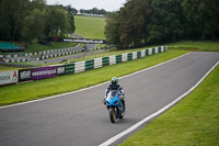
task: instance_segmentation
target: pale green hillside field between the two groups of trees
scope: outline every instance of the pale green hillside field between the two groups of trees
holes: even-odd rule
[[[74,15],[74,33],[85,38],[105,40],[105,18]]]

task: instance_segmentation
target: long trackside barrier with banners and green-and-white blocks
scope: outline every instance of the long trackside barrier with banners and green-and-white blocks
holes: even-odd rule
[[[149,55],[166,50],[168,46],[161,46],[155,48],[142,49],[140,52],[125,53],[122,55],[113,55],[108,57],[100,57],[92,60],[78,61],[67,65],[4,71],[0,72],[0,86],[15,83],[18,81],[22,82],[28,80],[53,78],[65,74],[66,75],[78,74],[108,65],[114,65],[123,61],[138,59],[141,57],[147,57]]]

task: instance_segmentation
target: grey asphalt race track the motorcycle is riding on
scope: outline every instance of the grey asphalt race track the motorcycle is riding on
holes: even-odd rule
[[[115,124],[110,122],[101,101],[106,83],[48,100],[2,108],[0,145],[100,145],[185,93],[218,61],[219,53],[191,53],[119,79],[126,93],[127,111],[125,119]]]

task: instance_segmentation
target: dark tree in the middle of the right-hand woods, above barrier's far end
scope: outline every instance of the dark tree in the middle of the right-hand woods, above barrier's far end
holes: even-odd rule
[[[181,0],[152,0],[153,10],[147,26],[149,43],[175,42],[183,36],[183,13]]]

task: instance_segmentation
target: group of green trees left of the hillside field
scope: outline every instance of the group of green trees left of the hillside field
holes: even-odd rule
[[[24,44],[76,30],[72,10],[46,0],[0,0],[0,40]]]

